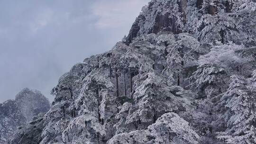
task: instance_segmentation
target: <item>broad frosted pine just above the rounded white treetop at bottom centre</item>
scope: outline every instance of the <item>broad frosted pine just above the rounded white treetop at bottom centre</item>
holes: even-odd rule
[[[172,83],[163,75],[145,73],[135,83],[137,87],[133,97],[135,105],[129,108],[125,123],[122,123],[123,118],[119,120],[120,124],[124,124],[119,126],[126,127],[128,131],[144,129],[167,112],[192,108],[190,92],[181,87],[172,86]],[[123,113],[123,110],[119,113]]]

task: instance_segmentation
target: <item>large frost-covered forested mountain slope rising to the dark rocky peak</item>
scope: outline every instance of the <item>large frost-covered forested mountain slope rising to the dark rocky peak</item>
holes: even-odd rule
[[[152,0],[11,144],[256,144],[256,0]]]

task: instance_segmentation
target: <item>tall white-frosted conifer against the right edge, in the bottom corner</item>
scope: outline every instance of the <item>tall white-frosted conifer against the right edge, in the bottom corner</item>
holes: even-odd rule
[[[227,121],[225,132],[219,133],[218,138],[228,144],[256,143],[256,98],[243,76],[233,75],[229,89],[221,98],[227,108],[224,119]]]

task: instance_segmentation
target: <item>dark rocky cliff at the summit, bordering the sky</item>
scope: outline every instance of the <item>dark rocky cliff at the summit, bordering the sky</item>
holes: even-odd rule
[[[186,23],[187,2],[188,0],[166,2],[153,0],[149,2],[148,7],[143,9],[142,13],[133,23],[126,38],[126,45],[129,45],[133,38],[143,34],[157,34],[159,32],[182,33],[184,31],[183,26]],[[175,4],[178,7],[175,7]]]

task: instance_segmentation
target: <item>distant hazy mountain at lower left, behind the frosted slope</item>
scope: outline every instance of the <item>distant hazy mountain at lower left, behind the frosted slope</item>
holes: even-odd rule
[[[32,117],[46,113],[50,103],[41,92],[23,89],[15,100],[7,100],[0,104],[0,144],[7,144],[18,126],[26,125]]]

